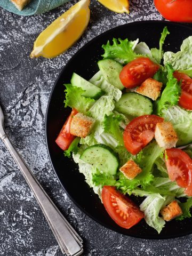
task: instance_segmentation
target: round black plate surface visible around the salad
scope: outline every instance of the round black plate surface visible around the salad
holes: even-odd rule
[[[131,229],[117,226],[105,211],[99,197],[84,181],[84,175],[78,172],[78,167],[73,159],[64,157],[62,150],[59,149],[54,140],[70,113],[70,109],[65,109],[63,105],[65,97],[63,83],[70,82],[73,72],[85,79],[90,79],[98,71],[97,61],[101,59],[100,56],[103,54],[101,45],[106,44],[113,37],[129,38],[130,40],[139,38],[140,42],[146,42],[150,48],[158,47],[159,37],[164,26],[167,26],[170,31],[170,35],[166,38],[164,51],[179,51],[183,39],[192,35],[192,28],[178,23],[142,21],[113,28],[92,39],[62,69],[53,87],[46,113],[46,143],[50,160],[62,187],[71,200],[79,209],[101,225],[118,233],[140,238],[171,238],[188,235],[192,233],[192,221],[187,219],[167,222],[160,235],[155,229],[149,227],[145,220],[140,221]]]

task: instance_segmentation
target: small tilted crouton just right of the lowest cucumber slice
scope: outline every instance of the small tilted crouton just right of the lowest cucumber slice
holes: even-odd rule
[[[134,179],[142,170],[141,168],[130,159],[119,169],[127,179]]]

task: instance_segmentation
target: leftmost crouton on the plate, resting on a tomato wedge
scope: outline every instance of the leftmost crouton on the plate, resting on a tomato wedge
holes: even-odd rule
[[[85,138],[92,129],[93,124],[93,118],[77,113],[71,121],[70,133],[77,137]]]

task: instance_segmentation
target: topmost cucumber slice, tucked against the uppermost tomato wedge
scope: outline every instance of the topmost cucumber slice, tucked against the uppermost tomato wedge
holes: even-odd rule
[[[123,66],[119,62],[110,59],[99,60],[98,66],[101,70],[103,77],[110,84],[117,87],[119,90],[123,90],[125,88],[121,80],[119,79],[119,74],[123,68]]]

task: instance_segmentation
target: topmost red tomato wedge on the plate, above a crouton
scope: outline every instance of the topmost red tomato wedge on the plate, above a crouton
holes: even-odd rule
[[[133,88],[140,85],[147,78],[153,77],[158,69],[159,65],[149,58],[140,57],[125,65],[119,78],[126,88]]]

